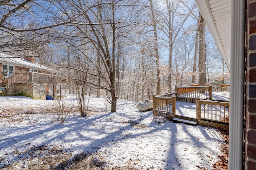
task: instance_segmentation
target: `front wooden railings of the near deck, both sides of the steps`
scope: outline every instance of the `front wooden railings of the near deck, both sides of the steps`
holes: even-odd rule
[[[188,93],[188,91],[186,91],[186,93]],[[164,114],[169,120],[172,120],[174,117],[190,119],[186,116],[176,115],[176,94],[177,92],[158,96],[153,95],[153,115],[157,115],[157,113]],[[193,121],[197,121],[199,125],[228,130],[229,111],[229,102],[201,100],[200,97],[197,96],[196,119]]]

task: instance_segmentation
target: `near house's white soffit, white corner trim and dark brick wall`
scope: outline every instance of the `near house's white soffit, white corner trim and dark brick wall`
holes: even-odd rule
[[[229,169],[256,170],[256,0],[195,0],[230,68]]]

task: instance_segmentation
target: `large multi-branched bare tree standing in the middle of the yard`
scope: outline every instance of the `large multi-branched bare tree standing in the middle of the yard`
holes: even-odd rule
[[[66,3],[63,4],[64,2]],[[122,0],[58,1],[58,6],[61,6],[65,18],[77,16],[67,25],[73,27],[72,32],[74,32],[72,36],[69,36],[70,41],[74,42],[73,47],[80,52],[81,57],[86,57],[86,61],[96,70],[88,74],[94,79],[100,78],[101,83],[99,84],[98,81],[87,83],[109,92],[112,112],[116,111],[119,95],[118,80],[123,55],[122,45],[125,44],[130,31],[135,26],[132,24],[136,18],[136,14],[133,14],[133,3],[134,1],[124,2]],[[92,51],[95,55],[87,55],[85,51]],[[102,67],[99,67],[97,63],[101,63]]]

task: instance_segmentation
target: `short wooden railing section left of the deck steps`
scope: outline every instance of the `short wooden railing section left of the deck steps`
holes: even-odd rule
[[[166,113],[175,115],[176,111],[176,92],[162,95],[153,95],[153,114]]]

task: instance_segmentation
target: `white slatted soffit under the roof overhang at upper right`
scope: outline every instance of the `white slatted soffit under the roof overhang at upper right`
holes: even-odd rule
[[[231,0],[195,1],[228,69],[230,69]]]

